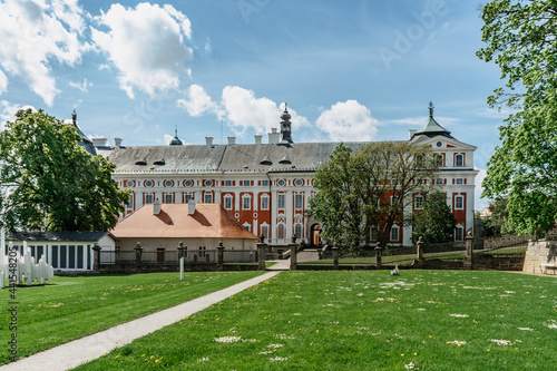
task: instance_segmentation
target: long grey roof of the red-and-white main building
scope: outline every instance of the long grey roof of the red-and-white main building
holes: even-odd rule
[[[368,144],[345,143],[358,149]],[[329,160],[339,143],[292,143],[261,145],[184,145],[119,147],[104,150],[126,173],[289,173],[315,172]],[[145,165],[144,165],[145,164]]]

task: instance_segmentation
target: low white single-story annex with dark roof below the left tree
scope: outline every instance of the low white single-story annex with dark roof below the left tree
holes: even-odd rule
[[[8,243],[13,243],[21,255],[25,255],[23,242],[31,250],[35,263],[42,255],[55,271],[78,272],[92,271],[95,244],[102,251],[114,251],[115,241],[108,232],[16,232],[6,235],[4,255]],[[102,262],[101,262],[102,263]],[[109,263],[109,262],[105,262]]]

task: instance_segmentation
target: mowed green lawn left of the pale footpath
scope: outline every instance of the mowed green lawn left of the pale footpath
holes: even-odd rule
[[[55,276],[17,287],[18,358],[177,305],[252,279],[260,272],[203,272]],[[0,363],[9,361],[9,289],[0,291]]]

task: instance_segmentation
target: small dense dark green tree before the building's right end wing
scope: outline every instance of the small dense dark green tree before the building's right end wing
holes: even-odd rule
[[[447,195],[441,192],[431,193],[423,203],[423,209],[416,212],[412,217],[413,237],[427,244],[452,241],[452,232],[457,221],[449,205]]]

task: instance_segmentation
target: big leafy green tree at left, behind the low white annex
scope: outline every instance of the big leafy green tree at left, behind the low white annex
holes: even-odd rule
[[[74,126],[42,110],[20,110],[0,133],[2,223],[9,231],[107,231],[128,191],[111,179],[114,164],[78,145]]]

